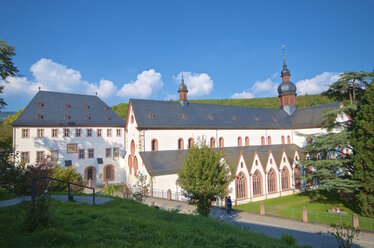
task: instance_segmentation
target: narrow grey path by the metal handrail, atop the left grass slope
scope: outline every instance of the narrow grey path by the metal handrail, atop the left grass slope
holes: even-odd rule
[[[59,200],[59,201],[68,201],[67,195],[52,195],[52,198],[55,200]],[[13,206],[23,201],[30,201],[30,200],[31,200],[30,196],[17,197],[17,198],[13,198],[10,200],[0,201],[0,207]],[[102,197],[102,196],[95,197],[96,205],[104,204],[111,200],[113,199],[108,198],[108,197]],[[92,205],[92,196],[74,196],[74,201],[77,203],[88,203]]]

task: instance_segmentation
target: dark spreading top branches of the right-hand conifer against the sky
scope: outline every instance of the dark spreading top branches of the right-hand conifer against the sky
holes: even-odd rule
[[[355,104],[360,100],[368,81],[374,77],[374,72],[344,72],[339,75],[339,80],[331,84],[329,89],[323,93],[338,101],[348,100]]]

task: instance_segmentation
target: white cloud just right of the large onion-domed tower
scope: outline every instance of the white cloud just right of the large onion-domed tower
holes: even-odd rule
[[[313,78],[300,80],[296,83],[298,95],[318,94],[329,88],[329,84],[339,79],[336,72],[323,72]]]

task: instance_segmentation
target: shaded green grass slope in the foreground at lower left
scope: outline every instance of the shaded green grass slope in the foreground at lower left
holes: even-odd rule
[[[48,228],[23,229],[28,205],[0,210],[0,247],[286,247],[282,240],[212,218],[165,212],[132,200],[90,206],[53,202]]]

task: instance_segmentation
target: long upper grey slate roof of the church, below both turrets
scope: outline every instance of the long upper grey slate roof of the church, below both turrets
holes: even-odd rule
[[[177,101],[131,99],[138,128],[144,129],[296,129],[319,127],[323,111],[339,103],[297,109],[250,108]]]

